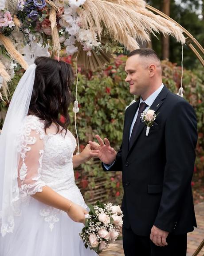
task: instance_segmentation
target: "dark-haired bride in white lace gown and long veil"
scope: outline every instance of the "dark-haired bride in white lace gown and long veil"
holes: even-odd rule
[[[71,65],[37,57],[21,78],[0,135],[0,256],[94,256],[79,237],[88,208],[73,167]],[[60,122],[62,114],[66,120]]]

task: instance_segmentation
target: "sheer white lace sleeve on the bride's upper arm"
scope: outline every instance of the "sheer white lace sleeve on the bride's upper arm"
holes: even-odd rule
[[[41,192],[45,183],[41,179],[44,152],[44,131],[41,121],[27,117],[21,136],[18,186],[23,195]]]

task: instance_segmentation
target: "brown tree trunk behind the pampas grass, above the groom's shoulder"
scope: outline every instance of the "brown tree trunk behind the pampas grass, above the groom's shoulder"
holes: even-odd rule
[[[162,12],[170,15],[170,0],[163,0]],[[169,36],[162,36],[162,58],[169,59]]]

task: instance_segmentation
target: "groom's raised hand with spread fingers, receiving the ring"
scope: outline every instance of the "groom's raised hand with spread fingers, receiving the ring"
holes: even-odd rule
[[[110,142],[107,138],[102,138],[97,134],[96,138],[98,143],[89,141],[89,145],[94,149],[90,151],[90,155],[100,158],[103,163],[111,165],[116,158],[117,152],[110,146]]]

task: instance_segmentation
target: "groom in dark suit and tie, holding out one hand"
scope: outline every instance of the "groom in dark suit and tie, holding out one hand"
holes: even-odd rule
[[[91,154],[104,171],[122,171],[123,248],[126,256],[186,256],[187,233],[196,227],[191,179],[197,141],[192,106],[162,83],[161,61],[137,49],[126,61],[129,92],[141,96],[125,114],[118,153],[96,135]],[[157,114],[146,136],[141,113]]]

